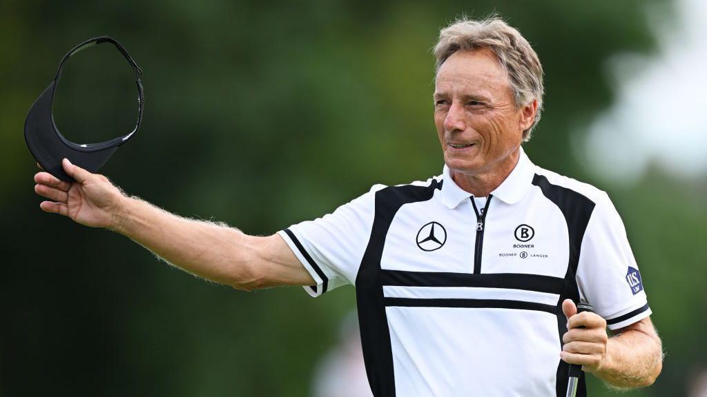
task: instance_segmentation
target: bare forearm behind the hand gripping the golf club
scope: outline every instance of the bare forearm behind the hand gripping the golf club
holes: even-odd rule
[[[630,329],[612,336],[606,360],[594,374],[618,389],[650,386],[662,369],[662,344],[654,335]]]

